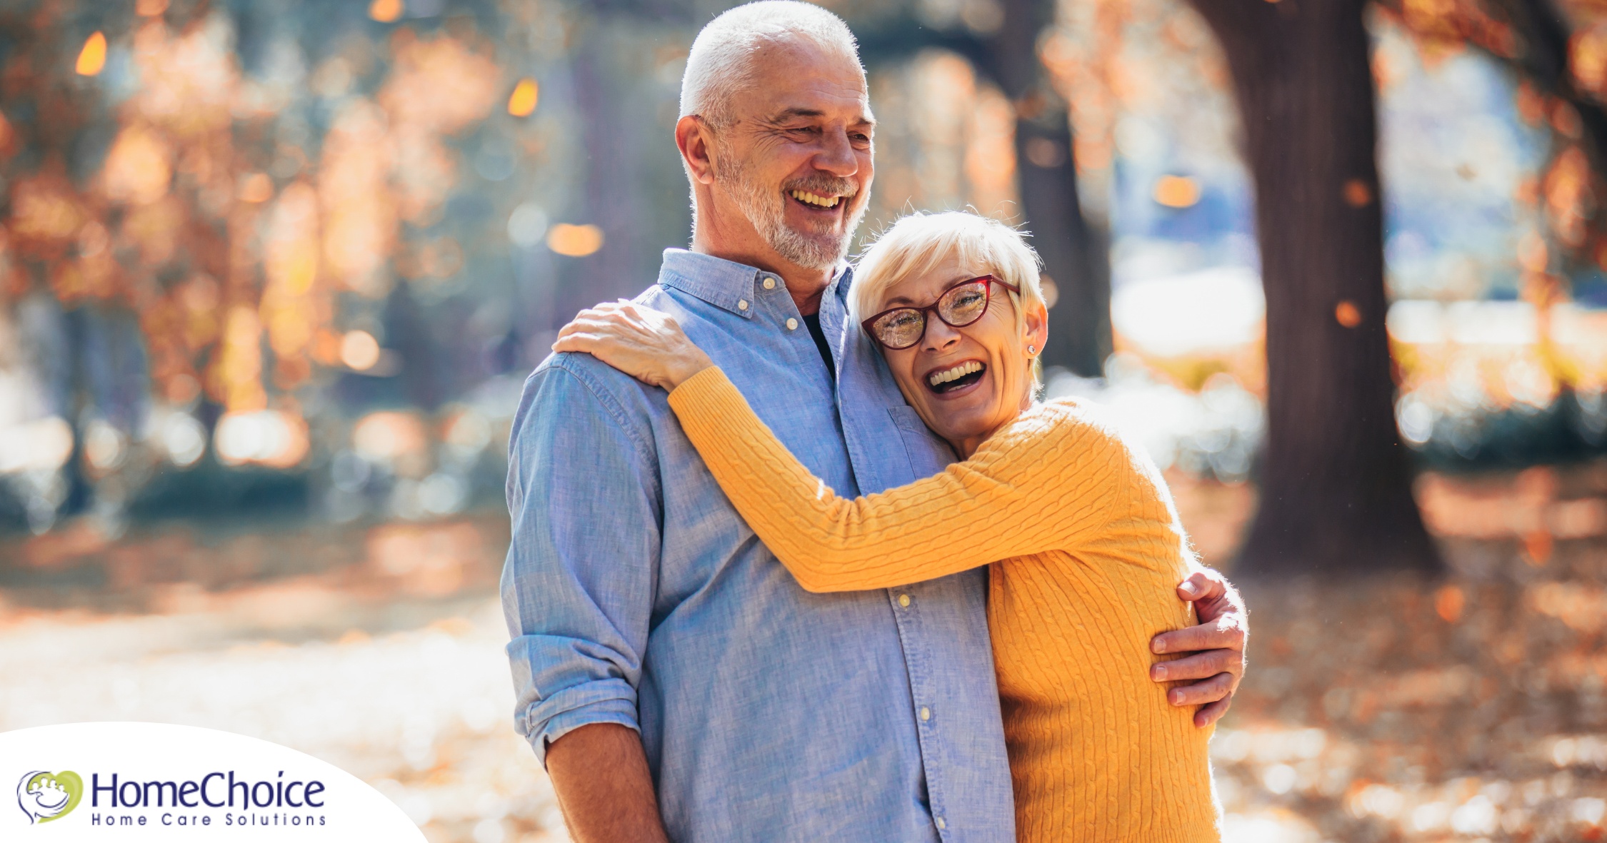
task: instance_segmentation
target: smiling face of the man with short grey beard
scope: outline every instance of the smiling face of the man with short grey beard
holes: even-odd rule
[[[871,117],[855,59],[771,43],[717,128],[715,185],[784,260],[834,267],[871,198]]]

